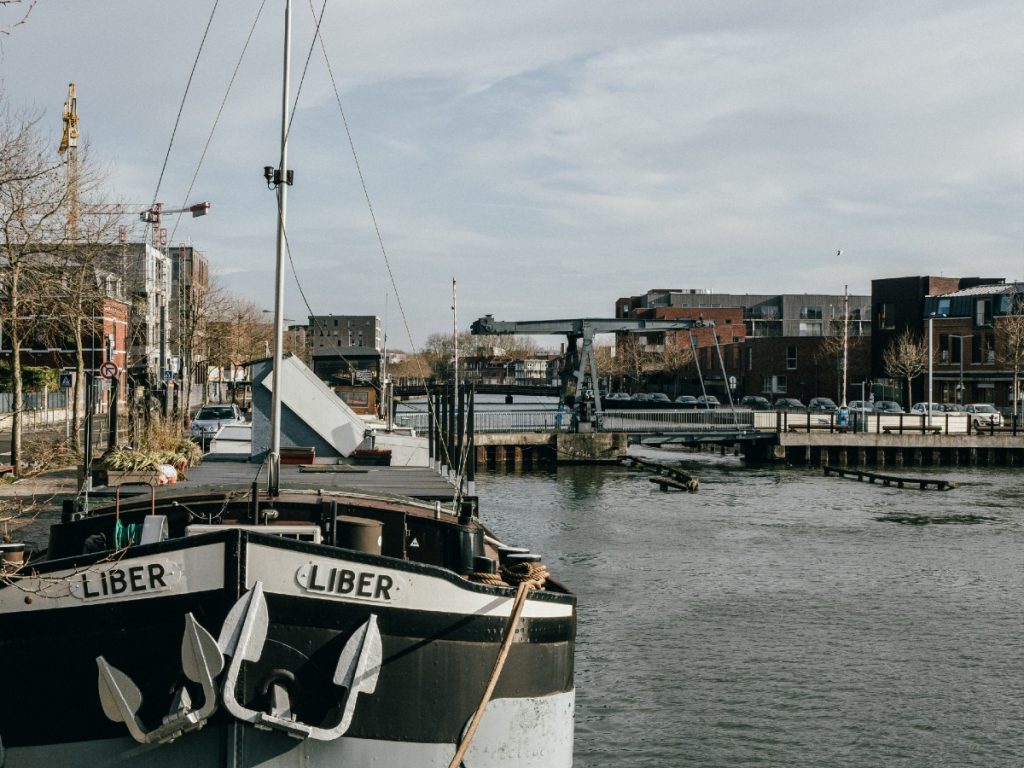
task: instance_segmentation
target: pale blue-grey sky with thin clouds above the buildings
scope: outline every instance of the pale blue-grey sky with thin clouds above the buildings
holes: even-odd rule
[[[171,243],[270,308],[262,168],[280,157],[285,2],[260,7],[37,0],[13,26],[29,3],[0,6],[0,94],[41,116],[55,151],[76,83],[113,199],[209,201],[209,216],[165,218]],[[310,54],[322,9],[330,69]],[[610,317],[653,288],[1024,278],[1020,0],[296,0],[293,13],[288,319],[377,314],[410,350],[483,314]]]

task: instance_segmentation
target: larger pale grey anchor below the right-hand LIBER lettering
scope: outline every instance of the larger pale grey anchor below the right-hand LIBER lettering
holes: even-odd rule
[[[321,728],[300,722],[292,714],[288,690],[274,684],[270,691],[270,712],[251,710],[236,696],[239,674],[243,662],[258,662],[266,643],[269,618],[263,585],[256,582],[252,590],[243,595],[231,606],[220,630],[217,645],[220,651],[231,657],[224,676],[224,709],[239,720],[252,723],[265,730],[280,730],[294,738],[313,738],[331,741],[344,734],[352,723],[356,697],[359,693],[373,693],[377,689],[383,651],[377,615],[371,616],[359,626],[345,642],[338,656],[332,682],[346,689],[341,717],[330,728]]]

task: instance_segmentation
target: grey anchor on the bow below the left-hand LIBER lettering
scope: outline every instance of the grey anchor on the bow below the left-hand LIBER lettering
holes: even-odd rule
[[[124,723],[128,732],[139,743],[167,743],[188,731],[206,725],[217,710],[217,691],[214,679],[224,669],[224,657],[217,642],[191,613],[185,614],[185,631],[181,638],[181,670],[185,677],[203,686],[203,706],[193,709],[188,690],[181,686],[171,702],[170,712],[159,726],[145,730],[138,718],[142,706],[142,692],[128,675],[102,656],[96,656],[99,668],[99,701],[103,714],[115,723]]]

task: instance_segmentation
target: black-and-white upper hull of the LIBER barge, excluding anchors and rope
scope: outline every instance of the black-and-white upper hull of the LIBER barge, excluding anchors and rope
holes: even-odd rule
[[[216,637],[255,584],[269,622],[258,660],[242,664],[240,702],[265,709],[268,687],[284,681],[296,719],[330,727],[344,700],[334,667],[374,617],[379,679],[357,697],[345,738],[455,744],[479,703],[513,596],[442,568],[239,529],[129,552],[116,562],[47,563],[36,581],[0,589],[7,694],[0,697],[0,739],[9,754],[125,737],[125,725],[100,706],[97,656],[138,686],[138,720],[146,727],[159,726],[182,686],[198,707],[203,689],[182,671],[185,615]],[[574,636],[574,598],[531,593],[494,698],[571,696]],[[206,727],[253,730],[224,707]],[[180,741],[198,742],[199,733]]]

